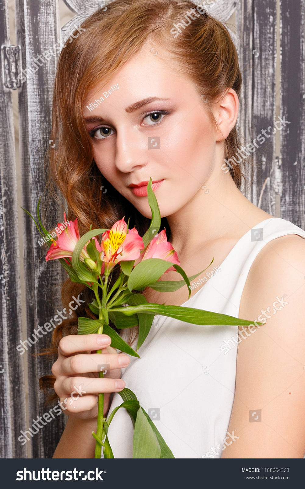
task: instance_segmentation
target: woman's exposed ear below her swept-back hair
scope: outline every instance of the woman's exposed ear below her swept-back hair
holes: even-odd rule
[[[239,100],[233,89],[226,91],[221,100],[214,105],[212,113],[219,128],[217,141],[223,141],[235,126],[238,116]]]

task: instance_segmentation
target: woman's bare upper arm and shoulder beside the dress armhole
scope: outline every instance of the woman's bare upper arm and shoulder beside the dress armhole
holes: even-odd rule
[[[226,440],[222,458],[304,457],[304,309],[305,241],[284,236],[260,252],[243,292],[241,318],[269,317],[240,336],[228,430],[235,441]]]

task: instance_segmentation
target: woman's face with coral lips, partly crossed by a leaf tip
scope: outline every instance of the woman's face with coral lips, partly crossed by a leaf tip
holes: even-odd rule
[[[144,45],[84,104],[97,167],[148,218],[149,178],[161,217],[174,214],[202,192],[213,171],[217,140],[194,84],[157,49],[155,54]],[[93,110],[87,108],[90,103]]]

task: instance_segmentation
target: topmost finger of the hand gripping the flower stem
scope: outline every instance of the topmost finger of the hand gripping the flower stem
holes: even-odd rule
[[[101,350],[110,344],[111,338],[107,334],[69,334],[61,338],[58,354],[70,356],[79,352]]]

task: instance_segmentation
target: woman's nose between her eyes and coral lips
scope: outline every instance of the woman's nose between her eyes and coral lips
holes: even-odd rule
[[[134,128],[117,129],[115,166],[123,173],[147,165],[147,137]]]

